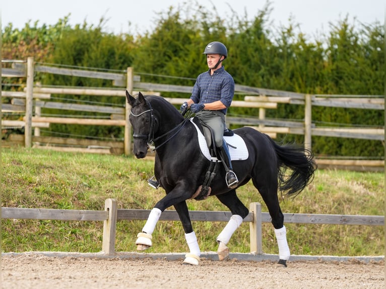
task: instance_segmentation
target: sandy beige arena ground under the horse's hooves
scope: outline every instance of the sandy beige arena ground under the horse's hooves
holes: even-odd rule
[[[361,263],[2,256],[2,288],[385,288],[384,261]]]

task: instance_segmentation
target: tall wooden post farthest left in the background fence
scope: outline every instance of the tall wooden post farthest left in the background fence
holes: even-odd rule
[[[32,146],[32,105],[33,105],[33,57],[27,58],[27,82],[26,82],[26,120],[24,126],[24,146]]]

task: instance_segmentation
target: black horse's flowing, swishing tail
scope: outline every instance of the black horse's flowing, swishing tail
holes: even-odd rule
[[[317,168],[313,153],[303,147],[271,142],[279,159],[279,190],[287,195],[298,195],[312,180]],[[286,168],[291,171],[286,171]]]

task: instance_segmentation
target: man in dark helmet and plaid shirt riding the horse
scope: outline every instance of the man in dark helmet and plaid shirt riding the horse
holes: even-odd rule
[[[227,186],[233,188],[238,184],[238,180],[232,169],[228,146],[223,139],[224,131],[227,131],[225,114],[234,94],[234,80],[222,66],[228,51],[223,43],[214,41],[205,47],[203,54],[207,56],[209,70],[197,77],[191,96],[182,104],[181,111],[190,107],[202,122],[212,128],[216,148],[227,171],[225,178]],[[207,137],[207,142],[209,146],[210,136],[209,139]]]

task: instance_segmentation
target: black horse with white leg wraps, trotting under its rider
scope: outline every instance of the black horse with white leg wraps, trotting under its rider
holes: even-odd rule
[[[133,126],[134,149],[138,159],[146,157],[150,143],[154,142],[155,177],[166,196],[159,200],[149,214],[149,218],[138,234],[138,250],[152,246],[152,233],[161,213],[174,206],[182,223],[185,239],[189,247],[183,263],[198,265],[200,249],[189,218],[186,200],[196,198],[197,192],[207,181],[207,171],[215,162],[208,159],[199,146],[201,132],[196,125],[168,101],[158,96],[134,98],[126,91],[127,102],[132,106],[130,122]],[[280,209],[278,189],[288,195],[296,195],[312,181],[316,165],[310,150],[296,146],[279,146],[267,134],[250,127],[234,130],[245,142],[247,158],[233,161],[239,183],[245,185],[250,179],[267,204],[275,228],[279,247],[279,263],[286,266],[290,257],[287,244],[284,216]],[[248,208],[236,195],[236,188],[228,188],[225,169],[214,166],[210,195],[215,195],[232,212],[224,230],[217,237],[219,259],[226,258],[230,237],[249,213]],[[286,175],[287,174],[287,175]]]

